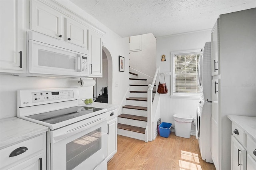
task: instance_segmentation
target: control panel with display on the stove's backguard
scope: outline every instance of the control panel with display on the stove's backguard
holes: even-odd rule
[[[74,98],[73,90],[32,92],[33,103],[72,98]]]

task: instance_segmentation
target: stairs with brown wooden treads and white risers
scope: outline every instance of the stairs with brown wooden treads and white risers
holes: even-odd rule
[[[148,121],[148,84],[147,79],[138,78],[136,73],[130,73],[130,97],[122,107],[118,116],[118,134],[146,141],[146,126]],[[156,93],[154,87],[153,95]]]

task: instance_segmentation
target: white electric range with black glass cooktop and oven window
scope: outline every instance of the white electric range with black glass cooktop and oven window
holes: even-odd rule
[[[47,169],[94,169],[107,156],[107,109],[79,100],[78,88],[18,90],[18,117],[49,128]]]

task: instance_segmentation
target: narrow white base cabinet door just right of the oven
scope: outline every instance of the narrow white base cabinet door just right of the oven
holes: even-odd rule
[[[117,151],[117,117],[108,122],[108,157],[110,160]]]

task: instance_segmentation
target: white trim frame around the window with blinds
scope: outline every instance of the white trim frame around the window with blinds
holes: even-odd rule
[[[171,52],[171,69],[172,69],[172,78],[171,78],[171,98],[180,98],[180,99],[200,99],[200,93],[174,93],[174,55],[186,55],[186,54],[202,54],[202,49],[192,49],[184,51],[172,51]]]

